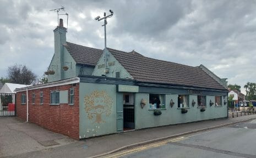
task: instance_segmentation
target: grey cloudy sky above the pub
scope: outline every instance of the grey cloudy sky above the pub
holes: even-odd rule
[[[190,66],[203,64],[242,92],[256,82],[256,1],[51,1],[0,0],[0,77],[8,66],[26,65],[42,76],[54,53],[57,12],[68,27],[67,41],[143,54]]]

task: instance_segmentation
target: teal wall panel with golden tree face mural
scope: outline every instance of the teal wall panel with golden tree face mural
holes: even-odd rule
[[[116,85],[80,83],[80,138],[116,132]]]

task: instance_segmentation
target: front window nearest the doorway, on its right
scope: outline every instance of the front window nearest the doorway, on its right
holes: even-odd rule
[[[165,109],[164,94],[149,94],[149,109]]]

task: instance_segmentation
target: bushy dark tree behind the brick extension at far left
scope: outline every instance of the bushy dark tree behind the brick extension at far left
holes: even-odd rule
[[[25,65],[13,65],[8,67],[8,78],[10,83],[32,84],[36,82],[36,75]]]

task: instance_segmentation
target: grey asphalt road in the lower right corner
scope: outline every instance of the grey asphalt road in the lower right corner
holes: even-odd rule
[[[193,133],[104,157],[256,157],[256,120]]]

